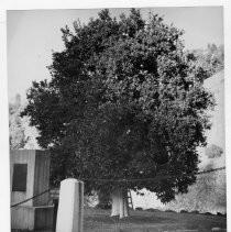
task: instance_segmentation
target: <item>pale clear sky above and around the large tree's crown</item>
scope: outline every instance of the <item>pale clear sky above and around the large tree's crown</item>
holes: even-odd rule
[[[47,66],[52,51],[64,49],[61,27],[77,19],[88,23],[100,9],[91,10],[10,10],[7,12],[8,96],[11,101],[20,93],[25,101],[26,89],[33,80],[50,79]],[[130,9],[110,9],[112,16],[128,14]],[[222,7],[142,8],[144,19],[148,12],[164,16],[185,31],[186,48],[205,48],[208,43],[223,44]]]

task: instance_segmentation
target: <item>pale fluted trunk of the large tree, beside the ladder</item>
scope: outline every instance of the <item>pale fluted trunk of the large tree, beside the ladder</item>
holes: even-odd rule
[[[124,189],[118,188],[111,194],[112,208],[111,217],[120,216],[120,219],[129,217],[128,192]]]

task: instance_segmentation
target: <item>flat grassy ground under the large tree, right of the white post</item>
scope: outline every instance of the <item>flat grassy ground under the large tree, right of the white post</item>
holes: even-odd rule
[[[212,228],[227,228],[227,218],[177,212],[131,211],[131,216],[119,220],[110,217],[109,210],[85,209],[84,232],[204,232]]]

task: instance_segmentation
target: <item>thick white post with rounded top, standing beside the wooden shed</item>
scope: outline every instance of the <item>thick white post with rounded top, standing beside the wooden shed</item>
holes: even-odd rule
[[[56,232],[82,232],[84,183],[65,179],[61,183]]]

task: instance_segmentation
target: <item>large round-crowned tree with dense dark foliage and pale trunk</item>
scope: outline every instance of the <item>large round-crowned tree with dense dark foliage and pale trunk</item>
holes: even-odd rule
[[[158,15],[145,22],[135,9],[119,20],[102,10],[62,32],[65,49],[53,53],[52,79],[33,82],[23,113],[52,152],[52,179],[84,178],[87,192],[110,192],[112,216],[121,217],[128,188],[146,188],[163,202],[186,192],[213,100],[183,32]],[[163,175],[180,176],[147,179]]]

